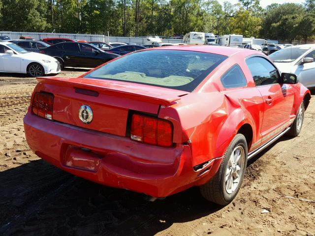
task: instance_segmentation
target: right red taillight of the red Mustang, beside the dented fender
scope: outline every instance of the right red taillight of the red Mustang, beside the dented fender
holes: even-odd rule
[[[173,144],[173,125],[168,120],[133,114],[130,138],[147,144],[170,147]]]

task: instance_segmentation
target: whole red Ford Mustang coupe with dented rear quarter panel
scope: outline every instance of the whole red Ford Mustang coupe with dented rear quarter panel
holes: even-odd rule
[[[154,198],[200,186],[221,205],[248,159],[300,133],[311,98],[263,54],[216,46],[148,49],[38,81],[24,128],[39,157]]]

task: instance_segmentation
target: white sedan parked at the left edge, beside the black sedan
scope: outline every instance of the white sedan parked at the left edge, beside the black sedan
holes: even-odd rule
[[[0,72],[23,73],[32,77],[60,73],[58,60],[39,53],[30,53],[10,43],[0,42]]]

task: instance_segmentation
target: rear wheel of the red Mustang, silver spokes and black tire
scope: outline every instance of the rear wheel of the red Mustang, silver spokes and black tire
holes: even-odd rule
[[[226,149],[217,174],[200,186],[201,195],[210,202],[227,205],[236,197],[247,165],[247,142],[237,134]]]

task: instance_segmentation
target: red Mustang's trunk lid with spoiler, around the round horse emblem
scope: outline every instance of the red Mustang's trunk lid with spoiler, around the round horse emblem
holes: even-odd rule
[[[126,135],[130,110],[158,115],[160,105],[172,105],[188,93],[99,79],[40,77],[37,80],[36,89],[55,96],[53,120],[120,136]],[[93,112],[89,124],[80,119],[82,106],[89,106]]]

